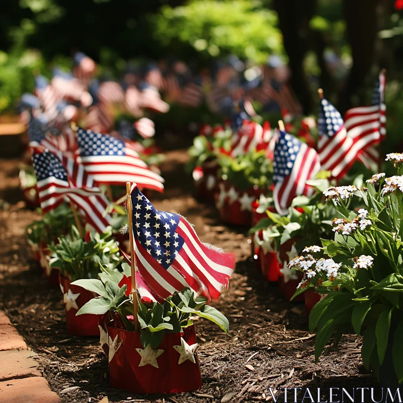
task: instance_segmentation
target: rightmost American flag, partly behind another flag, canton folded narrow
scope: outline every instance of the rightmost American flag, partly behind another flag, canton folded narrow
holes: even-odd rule
[[[385,72],[382,70],[372,95],[371,106],[361,106],[349,109],[344,115],[347,136],[359,142],[362,150],[367,150],[371,146],[379,143],[386,134],[386,106],[385,95]],[[371,151],[365,155],[376,155]],[[363,158],[365,158],[365,155]],[[376,158],[376,157],[375,157]]]

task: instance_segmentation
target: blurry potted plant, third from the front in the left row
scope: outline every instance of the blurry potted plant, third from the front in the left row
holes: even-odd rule
[[[61,204],[55,210],[46,213],[40,220],[36,220],[25,229],[28,243],[34,252],[34,259],[39,262],[44,275],[52,286],[59,286],[58,270],[49,266],[48,244],[57,243],[57,237],[65,233],[66,228],[74,224],[72,210]]]

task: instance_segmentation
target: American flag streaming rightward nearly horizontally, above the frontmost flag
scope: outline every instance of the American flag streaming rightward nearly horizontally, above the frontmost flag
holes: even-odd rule
[[[122,184],[136,181],[147,189],[164,190],[164,179],[151,171],[124,141],[80,127],[77,143],[81,163],[97,182]]]

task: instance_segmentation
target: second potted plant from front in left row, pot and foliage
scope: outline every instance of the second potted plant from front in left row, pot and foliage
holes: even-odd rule
[[[98,335],[98,317],[95,315],[76,316],[77,311],[94,295],[71,282],[78,279],[95,279],[99,265],[115,270],[121,261],[119,249],[111,238],[111,227],[103,234],[87,232],[81,238],[75,226],[71,234],[59,237],[59,243],[49,246],[50,267],[60,270],[59,284],[65,304],[66,327],[74,335]]]

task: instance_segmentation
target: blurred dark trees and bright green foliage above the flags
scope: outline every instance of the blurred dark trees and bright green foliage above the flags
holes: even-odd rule
[[[81,50],[118,75],[131,59],[179,58],[194,68],[236,55],[280,55],[306,114],[316,89],[344,112],[367,104],[387,69],[388,134],[403,123],[402,0],[15,0],[0,15],[0,112],[12,113],[36,73]]]

